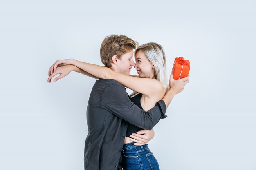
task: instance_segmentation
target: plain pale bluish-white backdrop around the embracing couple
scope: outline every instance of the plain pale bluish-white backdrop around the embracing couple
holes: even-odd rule
[[[48,69],[65,58],[102,65],[102,40],[124,34],[161,44],[168,75],[175,57],[191,62],[149,142],[160,168],[256,170],[255,9],[254,0],[1,0],[0,169],[83,170],[95,80],[72,72],[48,84]]]

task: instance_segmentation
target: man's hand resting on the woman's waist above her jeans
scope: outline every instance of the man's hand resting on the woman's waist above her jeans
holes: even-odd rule
[[[154,130],[141,130],[130,135],[131,141],[135,142],[134,145],[140,146],[147,144],[155,135]]]

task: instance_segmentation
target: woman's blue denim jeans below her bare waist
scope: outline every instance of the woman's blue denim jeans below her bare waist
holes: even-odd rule
[[[122,166],[124,170],[159,170],[159,165],[148,144],[133,145],[134,142],[124,144],[122,150]]]

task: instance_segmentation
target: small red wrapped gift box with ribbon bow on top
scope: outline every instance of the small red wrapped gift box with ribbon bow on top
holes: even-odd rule
[[[173,63],[173,79],[182,79],[189,75],[190,62],[183,57],[176,57]]]

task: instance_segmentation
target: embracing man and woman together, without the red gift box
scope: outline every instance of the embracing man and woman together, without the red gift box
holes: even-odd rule
[[[105,67],[66,59],[57,60],[48,72],[47,82],[71,71],[98,79],[87,106],[85,170],[159,170],[147,143],[154,136],[153,127],[167,117],[166,108],[184,89],[189,76],[174,80],[171,74],[168,82],[162,46],[154,42],[138,46],[125,35],[106,37],[100,57]],[[138,75],[130,76],[132,67]],[[125,87],[134,92],[129,96]]]

